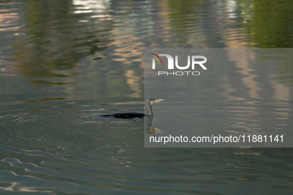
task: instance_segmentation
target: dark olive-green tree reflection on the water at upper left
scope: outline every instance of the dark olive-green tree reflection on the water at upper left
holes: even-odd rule
[[[13,59],[21,76],[33,78],[64,78],[77,76],[77,62],[108,48],[111,23],[91,21],[88,15],[74,9],[70,0],[51,1],[48,5],[28,1],[25,13],[25,35],[13,45]],[[78,9],[79,7],[76,7]],[[99,11],[95,7],[95,11]],[[101,12],[99,13],[101,14]],[[83,19],[83,20],[82,20]],[[66,70],[66,71],[63,71]],[[32,80],[37,87],[59,85],[60,82]],[[67,84],[62,82],[62,85]],[[68,84],[72,84],[68,82]]]

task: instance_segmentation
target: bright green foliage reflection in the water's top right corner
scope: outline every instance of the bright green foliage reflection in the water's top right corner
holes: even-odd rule
[[[293,48],[293,3],[290,0],[254,0],[248,21],[249,35],[259,48]]]

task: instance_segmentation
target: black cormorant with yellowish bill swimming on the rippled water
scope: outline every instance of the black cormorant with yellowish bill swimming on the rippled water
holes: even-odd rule
[[[117,113],[117,114],[110,114],[110,115],[99,115],[102,117],[116,117],[116,118],[141,118],[141,117],[153,117],[154,113],[152,110],[152,105],[156,102],[164,101],[164,99],[156,99],[156,98],[149,98],[145,102],[145,107],[147,110],[147,114],[138,113],[138,112],[127,112],[127,113]]]

